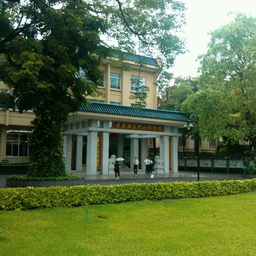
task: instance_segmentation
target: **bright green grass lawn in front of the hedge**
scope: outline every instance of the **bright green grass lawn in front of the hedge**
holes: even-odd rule
[[[245,256],[256,192],[0,212],[1,256]],[[86,210],[88,221],[86,221]]]

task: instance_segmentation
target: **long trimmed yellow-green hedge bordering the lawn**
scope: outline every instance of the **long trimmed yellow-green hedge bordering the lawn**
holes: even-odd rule
[[[0,189],[0,210],[79,207],[140,200],[200,198],[256,191],[256,179],[111,186],[52,186]]]

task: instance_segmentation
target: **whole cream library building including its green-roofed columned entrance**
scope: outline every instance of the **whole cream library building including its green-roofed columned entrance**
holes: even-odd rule
[[[141,66],[140,61],[144,65]],[[140,167],[148,155],[148,144],[158,138],[160,159],[164,172],[177,170],[178,128],[187,117],[180,112],[157,110],[158,77],[157,60],[139,55],[126,57],[129,70],[115,67],[110,60],[100,66],[105,83],[99,89],[105,98],[92,99],[89,106],[81,106],[70,119],[64,131],[64,156],[68,172],[85,171],[88,175],[108,174],[111,155],[125,158],[132,167],[134,157],[140,160]],[[147,105],[135,110],[135,102],[129,96],[138,89],[134,79],[149,87]],[[0,84],[1,90],[6,85]],[[23,159],[29,155],[27,135],[31,129],[32,112],[19,114],[17,111],[0,110],[0,157]],[[86,168],[84,168],[86,166]],[[132,169],[132,168],[131,168]]]

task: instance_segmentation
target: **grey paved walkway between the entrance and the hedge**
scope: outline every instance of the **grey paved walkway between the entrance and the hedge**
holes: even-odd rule
[[[177,174],[145,174],[140,169],[137,174],[129,171],[120,171],[120,180],[115,180],[114,172],[109,175],[86,175],[86,172],[74,172],[73,175],[84,177],[84,185],[116,185],[128,183],[157,183],[175,181],[197,181],[197,172],[180,171]],[[10,175],[0,175],[0,188],[7,188],[6,178]],[[244,180],[242,174],[228,174],[217,172],[200,172],[200,181],[204,180]]]

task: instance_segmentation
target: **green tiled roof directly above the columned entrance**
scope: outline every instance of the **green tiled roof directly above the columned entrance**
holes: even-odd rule
[[[81,105],[80,111],[98,114],[134,116],[149,119],[162,119],[180,122],[186,122],[188,119],[188,117],[185,114],[177,111],[167,111],[150,108],[141,108],[140,110],[135,110],[134,108],[128,106],[113,105],[99,102],[92,102],[92,104],[88,106]]]

